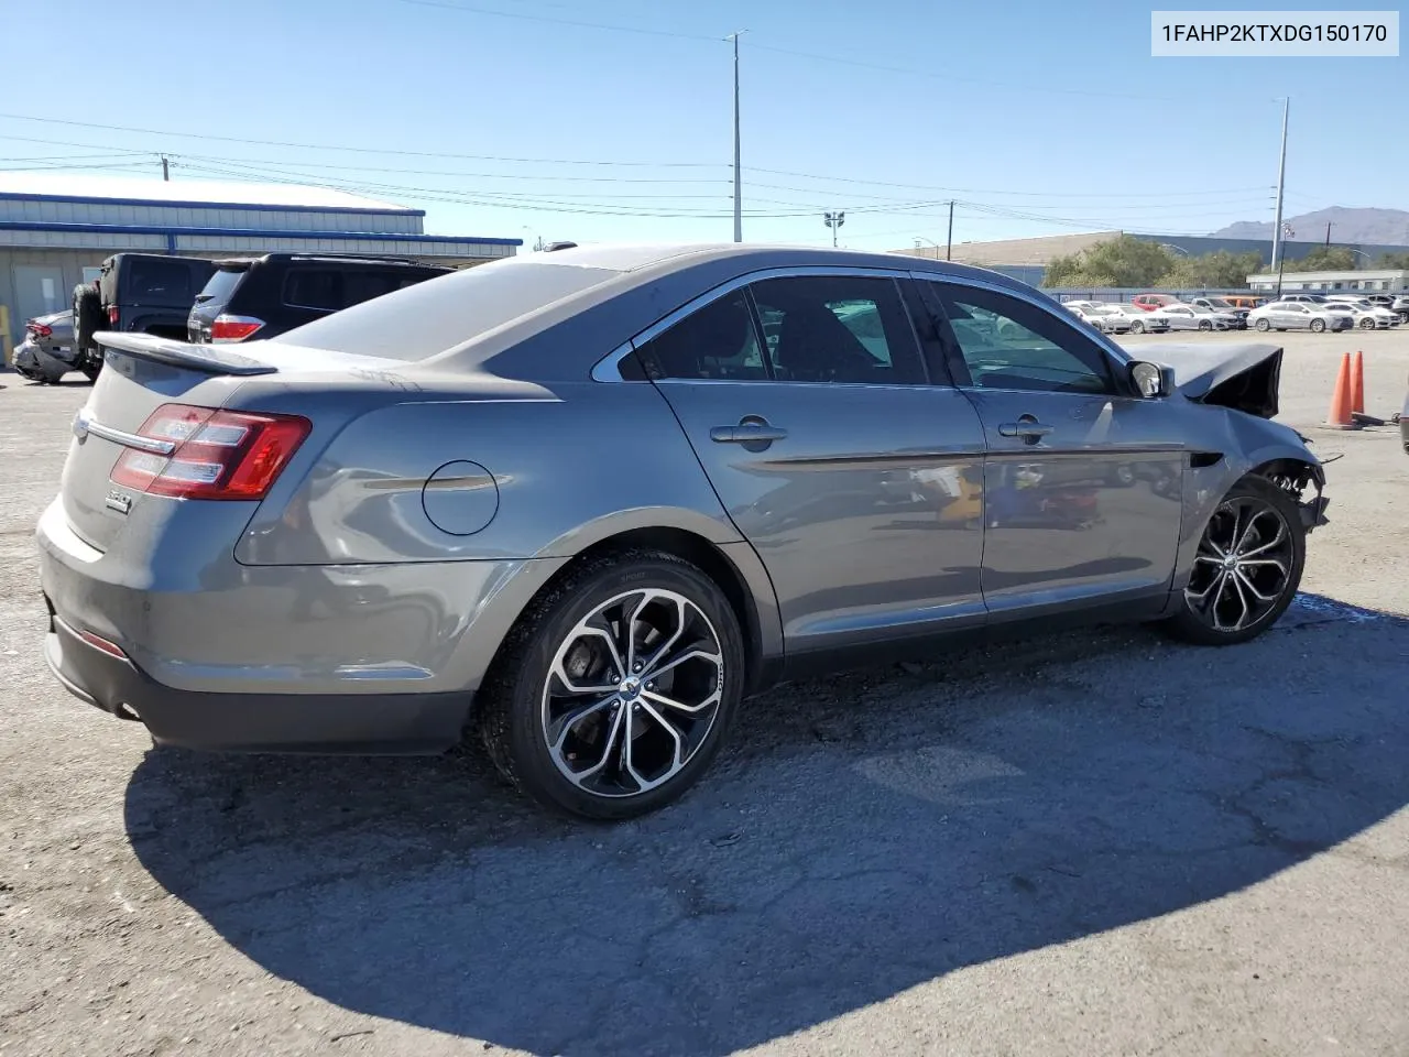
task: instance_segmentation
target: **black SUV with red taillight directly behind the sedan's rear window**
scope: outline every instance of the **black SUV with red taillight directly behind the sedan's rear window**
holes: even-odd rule
[[[272,338],[328,313],[455,271],[418,261],[265,254],[216,261],[186,320],[194,344]]]

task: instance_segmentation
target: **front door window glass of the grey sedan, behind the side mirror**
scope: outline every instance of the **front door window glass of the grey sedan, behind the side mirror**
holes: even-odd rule
[[[992,290],[937,286],[954,342],[975,386],[1113,392],[1106,354],[1051,313]]]

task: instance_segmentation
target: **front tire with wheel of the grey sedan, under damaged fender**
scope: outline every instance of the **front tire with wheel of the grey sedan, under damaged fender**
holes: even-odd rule
[[[1239,540],[1250,564],[1230,575],[1220,554],[1234,550]],[[1164,629],[1198,645],[1257,638],[1292,603],[1305,561],[1306,530],[1296,502],[1271,481],[1248,475],[1229,489],[1209,517],[1179,610],[1164,622]]]

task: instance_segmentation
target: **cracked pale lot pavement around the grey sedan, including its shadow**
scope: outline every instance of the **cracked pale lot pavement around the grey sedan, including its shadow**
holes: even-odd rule
[[[1285,344],[1343,458],[1264,638],[781,688],[617,827],[476,754],[154,753],[68,698],[31,530],[87,389],[0,375],[0,1053],[1409,1053],[1409,458],[1316,428],[1357,345],[1398,410],[1409,340]]]

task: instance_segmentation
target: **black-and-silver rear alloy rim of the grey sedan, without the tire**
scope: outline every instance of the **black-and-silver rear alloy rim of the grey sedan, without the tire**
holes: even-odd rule
[[[685,595],[644,588],[602,603],[564,637],[540,727],[569,782],[637,796],[695,758],[723,693],[724,651],[709,617]]]

